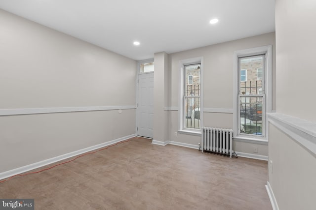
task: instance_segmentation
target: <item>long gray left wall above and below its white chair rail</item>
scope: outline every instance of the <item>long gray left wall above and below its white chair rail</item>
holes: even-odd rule
[[[135,106],[135,81],[136,61],[0,10],[0,110]],[[136,109],[0,116],[0,173],[135,134],[135,118]]]

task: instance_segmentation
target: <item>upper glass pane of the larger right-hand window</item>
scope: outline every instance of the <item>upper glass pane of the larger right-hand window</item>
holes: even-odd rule
[[[263,85],[263,55],[239,59],[240,93],[257,94]],[[261,89],[263,90],[263,89]]]

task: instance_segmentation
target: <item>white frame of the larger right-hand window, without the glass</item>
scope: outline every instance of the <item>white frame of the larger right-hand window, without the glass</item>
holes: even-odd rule
[[[272,45],[263,46],[263,47],[256,47],[250,48],[246,50],[239,50],[234,52],[234,72],[233,72],[233,129],[234,129],[234,140],[242,140],[242,141],[250,141],[250,142],[268,142],[268,120],[265,120],[262,136],[255,136],[255,135],[245,135],[239,133],[238,130],[238,116],[240,112],[240,108],[238,107],[238,94],[239,94],[239,58],[240,57],[248,57],[248,56],[255,56],[265,54],[264,66],[265,66],[265,73],[263,74],[264,77],[264,93],[265,97],[263,98],[263,103],[265,104],[265,110],[263,110],[262,117],[265,118],[267,113],[272,112]],[[264,115],[265,112],[265,115]]]

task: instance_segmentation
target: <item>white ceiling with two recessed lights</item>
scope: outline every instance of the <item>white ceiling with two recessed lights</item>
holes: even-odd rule
[[[134,60],[275,31],[275,0],[0,0],[0,8]]]

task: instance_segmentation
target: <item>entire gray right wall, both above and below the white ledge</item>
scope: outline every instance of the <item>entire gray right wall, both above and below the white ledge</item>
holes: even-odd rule
[[[314,135],[315,11],[314,0],[276,0],[276,114],[286,115],[292,121],[284,120],[287,124],[303,121],[301,127],[314,129]],[[279,124],[269,125],[269,182],[278,207],[315,210],[316,154],[310,150],[316,147],[315,137],[304,132],[294,137],[295,129],[288,131]]]

